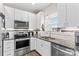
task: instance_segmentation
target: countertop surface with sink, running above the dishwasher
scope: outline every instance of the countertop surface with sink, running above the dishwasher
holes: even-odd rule
[[[51,37],[48,37],[47,39],[46,38],[44,39],[42,37],[34,37],[34,38],[38,38],[38,39],[41,39],[41,40],[44,40],[44,41],[56,43],[56,44],[59,44],[59,45],[62,45],[62,46],[65,46],[65,47],[68,47],[68,48],[71,48],[71,49],[75,49],[75,45],[72,42],[68,43],[68,41],[64,41],[63,39],[55,39],[55,38],[51,38]]]

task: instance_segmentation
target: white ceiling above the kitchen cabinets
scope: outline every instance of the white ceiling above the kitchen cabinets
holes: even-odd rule
[[[32,13],[38,13],[39,11],[43,10],[44,8],[47,8],[49,5],[52,3],[4,3],[4,5],[13,7],[13,8],[18,8],[22,9],[25,11],[29,11]]]

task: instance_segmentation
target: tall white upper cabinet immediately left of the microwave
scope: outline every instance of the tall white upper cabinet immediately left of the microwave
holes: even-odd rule
[[[14,8],[4,6],[5,9],[5,27],[14,28]]]

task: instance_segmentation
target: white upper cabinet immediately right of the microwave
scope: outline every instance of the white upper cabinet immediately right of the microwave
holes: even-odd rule
[[[29,13],[29,29],[36,29],[36,14]]]

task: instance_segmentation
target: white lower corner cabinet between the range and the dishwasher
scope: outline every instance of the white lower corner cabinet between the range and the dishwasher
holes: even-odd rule
[[[47,42],[38,38],[31,38],[30,49],[36,50],[42,56],[51,56],[51,43],[50,42]]]

